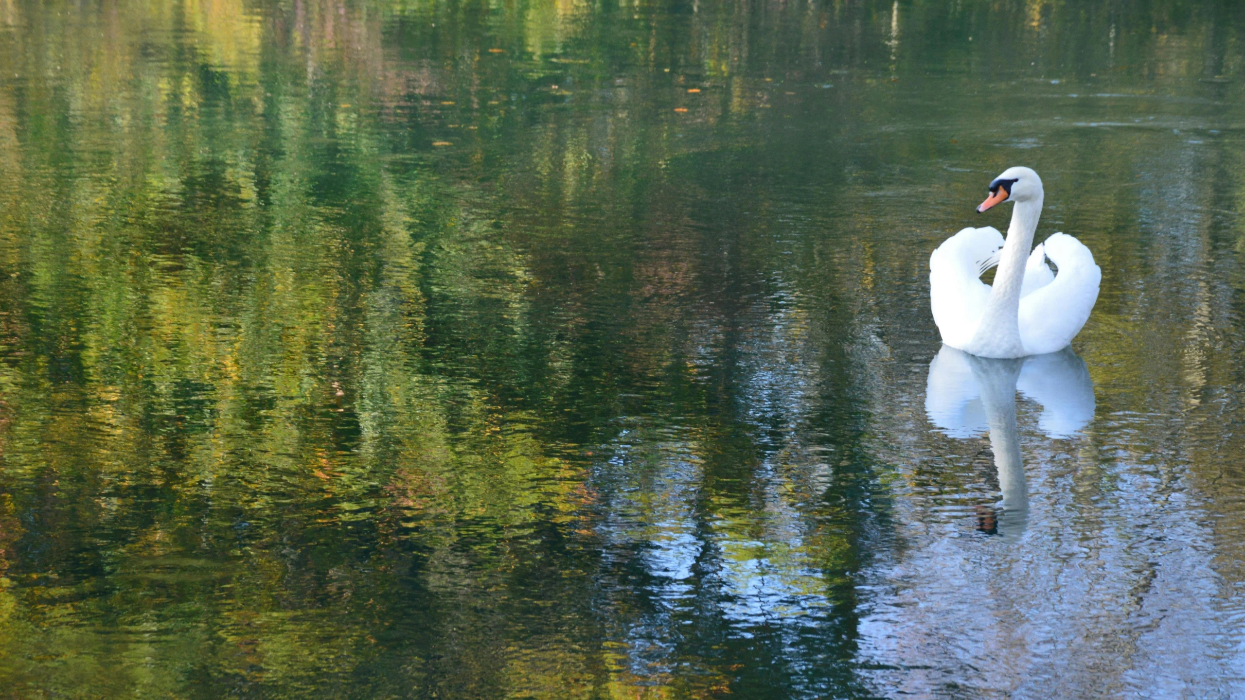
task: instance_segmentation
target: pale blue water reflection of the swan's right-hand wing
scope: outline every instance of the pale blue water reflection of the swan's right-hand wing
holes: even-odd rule
[[[1093,419],[1093,381],[1071,348],[1027,357],[1016,389],[1042,405],[1037,427],[1051,437],[1069,437]]]

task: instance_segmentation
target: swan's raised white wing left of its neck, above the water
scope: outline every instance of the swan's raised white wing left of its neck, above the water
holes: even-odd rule
[[[972,340],[981,313],[990,299],[990,285],[981,273],[1003,245],[994,227],[966,228],[947,238],[930,255],[930,309],[947,345],[964,346]]]

